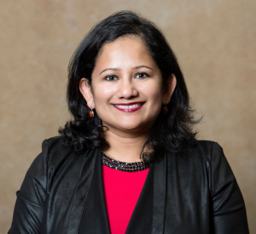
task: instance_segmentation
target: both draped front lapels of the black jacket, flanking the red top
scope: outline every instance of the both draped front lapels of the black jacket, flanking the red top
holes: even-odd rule
[[[166,207],[166,154],[154,161],[148,171],[143,191],[131,215],[125,234],[164,231]],[[110,234],[106,209],[100,148],[84,154],[67,234]]]

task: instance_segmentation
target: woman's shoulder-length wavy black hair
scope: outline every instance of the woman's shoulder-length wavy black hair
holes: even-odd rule
[[[90,108],[79,91],[79,81],[82,77],[86,77],[91,85],[91,74],[97,55],[104,43],[129,35],[140,37],[143,40],[149,54],[160,68],[163,86],[166,85],[167,77],[171,74],[177,78],[177,86],[171,101],[167,104],[169,111],[166,115],[160,111],[144,143],[141,157],[154,159],[157,157],[156,152],[164,148],[176,156],[184,155],[189,144],[195,142],[197,132],[193,126],[200,120],[195,120],[194,110],[189,105],[189,93],[182,71],[160,29],[151,21],[126,10],[112,14],[94,26],[79,44],[70,60],[67,103],[73,120],[67,122],[64,128],[59,128],[63,142],[78,153],[90,147],[108,146],[104,138],[104,132],[108,129],[102,126],[102,120],[98,117],[96,110],[94,110],[93,118],[89,116]],[[153,149],[154,153],[143,152],[146,146]]]

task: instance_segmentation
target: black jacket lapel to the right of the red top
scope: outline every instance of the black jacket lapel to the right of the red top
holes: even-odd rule
[[[166,154],[150,166],[143,191],[125,234],[164,233],[166,216]]]

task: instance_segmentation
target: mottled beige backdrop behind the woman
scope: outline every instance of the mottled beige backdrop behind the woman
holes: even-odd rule
[[[20,0],[0,7],[0,233],[15,191],[44,139],[67,121],[67,64],[99,20],[133,9],[153,20],[177,54],[191,99],[204,114],[199,139],[224,152],[256,233],[256,1]]]

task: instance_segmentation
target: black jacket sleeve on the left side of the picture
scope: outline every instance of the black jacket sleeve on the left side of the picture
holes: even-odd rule
[[[40,233],[47,194],[47,163],[49,142],[44,140],[42,152],[26,172],[25,179],[16,192],[15,212],[9,234]]]

